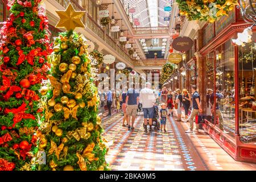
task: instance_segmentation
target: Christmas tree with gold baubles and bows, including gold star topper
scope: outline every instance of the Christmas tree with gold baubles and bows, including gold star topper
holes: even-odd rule
[[[39,150],[46,152],[46,165],[39,170],[86,171],[106,170],[105,155],[108,148],[101,119],[98,117],[97,88],[93,84],[87,40],[73,31],[81,23],[82,11],[75,11],[71,4],[67,10],[56,11],[65,27],[55,39],[49,82],[41,90],[47,90],[44,118],[40,127]],[[74,16],[72,16],[74,15]],[[64,18],[63,18],[64,16]]]

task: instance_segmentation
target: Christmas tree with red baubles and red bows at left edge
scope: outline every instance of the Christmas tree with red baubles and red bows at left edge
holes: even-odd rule
[[[0,32],[0,171],[31,170],[37,152],[41,82],[49,46],[45,9],[35,1],[9,1]]]

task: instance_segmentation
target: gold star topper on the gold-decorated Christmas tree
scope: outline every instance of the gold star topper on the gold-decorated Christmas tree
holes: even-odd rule
[[[85,27],[84,23],[81,21],[85,11],[76,11],[71,3],[69,3],[67,9],[64,11],[56,10],[56,13],[60,16],[60,20],[55,26],[56,28],[75,30],[77,27]]]

